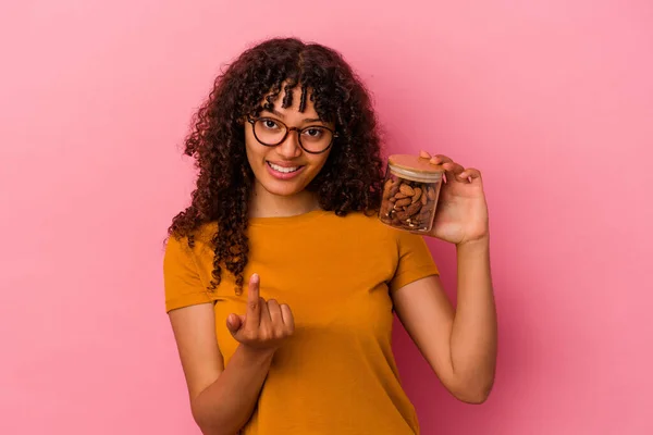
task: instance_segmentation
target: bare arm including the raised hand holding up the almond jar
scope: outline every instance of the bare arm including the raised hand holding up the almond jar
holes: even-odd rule
[[[481,173],[446,156],[431,158],[421,151],[420,158],[441,164],[446,174],[428,235],[456,245],[458,302],[454,311],[436,276],[397,289],[394,302],[408,334],[445,387],[463,401],[480,403],[494,383],[497,341]]]

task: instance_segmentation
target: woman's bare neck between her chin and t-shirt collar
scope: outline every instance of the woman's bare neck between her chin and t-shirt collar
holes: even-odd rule
[[[318,210],[320,204],[316,194],[301,190],[292,196],[270,194],[256,182],[249,203],[249,217],[295,216]]]

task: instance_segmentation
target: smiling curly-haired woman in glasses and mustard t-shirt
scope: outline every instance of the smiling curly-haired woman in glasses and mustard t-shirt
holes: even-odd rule
[[[454,311],[422,237],[375,216],[378,126],[340,54],[296,39],[245,51],[186,153],[199,175],[170,227],[165,302],[205,434],[418,433],[393,311],[455,397],[485,400],[496,321],[480,174],[431,159],[447,183],[429,236],[456,245]]]

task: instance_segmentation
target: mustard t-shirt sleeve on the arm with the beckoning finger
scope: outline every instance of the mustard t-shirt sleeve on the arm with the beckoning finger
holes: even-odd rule
[[[165,312],[176,308],[211,302],[202,284],[187,238],[170,236],[163,256]]]

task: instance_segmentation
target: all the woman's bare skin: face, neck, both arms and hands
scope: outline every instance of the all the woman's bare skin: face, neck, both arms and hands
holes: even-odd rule
[[[294,105],[276,113],[263,113],[287,126],[323,124],[310,99],[298,111],[299,90]],[[250,216],[289,216],[319,208],[305,188],[322,169],[329,151],[305,152],[291,133],[276,147],[260,145],[251,124],[245,124],[247,158],[256,176]],[[454,309],[438,276],[430,276],[398,289],[394,304],[406,331],[443,385],[459,400],[481,403],[494,382],[496,361],[496,314],[490,274],[488,208],[481,174],[465,169],[445,156],[420,156],[443,164],[447,183],[442,187],[433,231],[428,236],[456,246],[458,262],[457,308]],[[268,161],[304,166],[287,181],[275,179]],[[188,385],[193,415],[204,434],[236,434],[249,420],[276,349],[294,332],[292,308],[283,301],[259,296],[260,277],[249,279],[247,311],[233,313],[227,327],[239,343],[225,368],[217,344],[214,313],[210,303],[170,312],[182,365]]]

